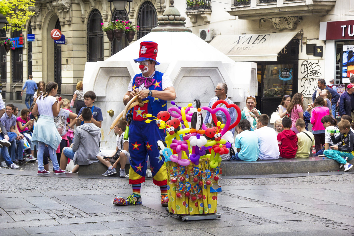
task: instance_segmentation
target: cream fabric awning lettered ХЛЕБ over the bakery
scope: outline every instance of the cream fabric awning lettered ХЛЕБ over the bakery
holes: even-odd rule
[[[235,62],[277,61],[278,53],[296,32],[217,35],[209,43]]]

